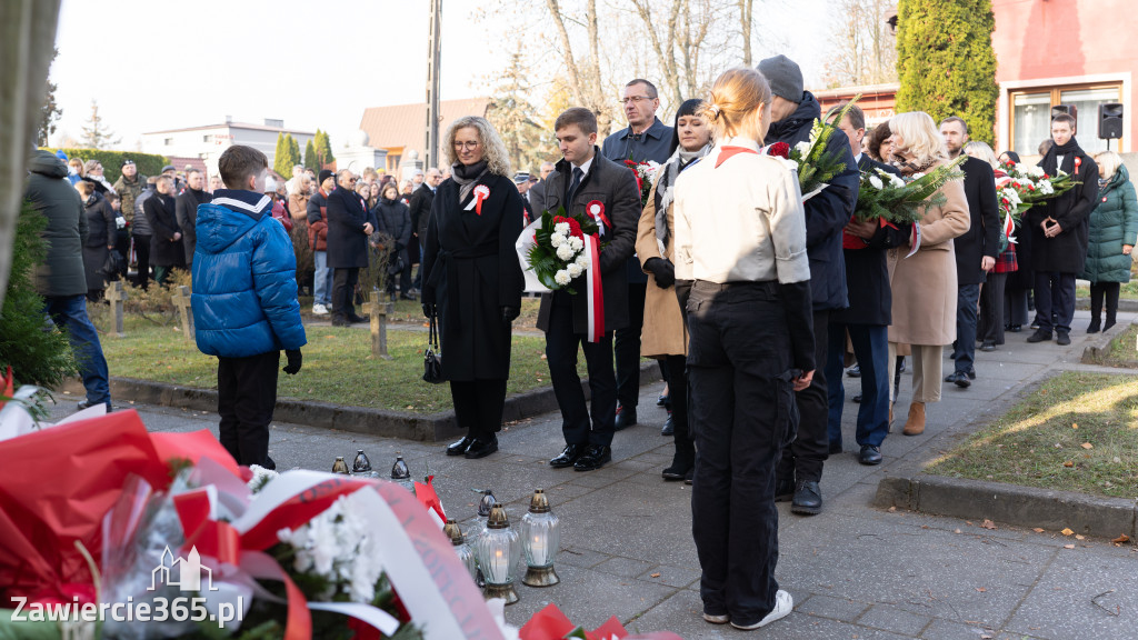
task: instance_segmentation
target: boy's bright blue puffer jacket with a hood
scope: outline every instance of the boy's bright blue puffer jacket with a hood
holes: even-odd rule
[[[218,189],[198,205],[193,323],[198,348],[246,358],[307,342],[296,300],[296,255],[272,199]]]

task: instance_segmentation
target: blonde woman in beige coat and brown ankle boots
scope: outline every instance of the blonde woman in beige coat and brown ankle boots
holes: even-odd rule
[[[889,129],[893,165],[902,177],[946,164],[945,139],[929,114],[900,114],[889,121]],[[901,432],[905,435],[924,433],[925,404],[940,401],[945,345],[956,339],[956,252],[951,240],[968,230],[971,219],[963,182],[949,182],[938,192],[943,204],[925,210],[921,222],[914,224],[909,246],[889,252],[893,289],[889,361],[896,358],[898,343],[913,350],[913,399]],[[918,232],[917,252],[905,257]]]

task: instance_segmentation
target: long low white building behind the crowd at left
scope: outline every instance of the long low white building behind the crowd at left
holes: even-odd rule
[[[264,124],[251,124],[232,122],[226,116],[222,124],[143,133],[142,153],[168,157],[201,158],[206,170],[211,174],[216,174],[217,158],[221,157],[221,154],[233,145],[245,145],[265,154],[271,167],[277,155],[277,137],[280,133],[291,134],[300,146],[302,155],[308,140],[315,139],[316,136],[310,131],[286,129],[284,122],[280,120],[265,120]]]

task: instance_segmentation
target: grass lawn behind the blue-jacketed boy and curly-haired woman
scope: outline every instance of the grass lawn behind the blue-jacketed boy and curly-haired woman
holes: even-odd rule
[[[93,311],[92,320],[100,331],[112,326],[106,307]],[[178,322],[159,326],[127,315],[124,325],[125,337],[104,334],[100,338],[112,376],[216,388],[217,359],[183,339],[175,329]],[[414,413],[452,408],[450,385],[431,385],[421,379],[426,334],[389,330],[388,353],[394,360],[387,361],[371,356],[371,336],[366,329],[308,327],[307,335],[304,368],[296,376],[280,374],[280,397]],[[544,351],[544,338],[514,336],[508,393],[550,385]],[[284,366],[283,354],[281,366]],[[582,377],[586,375],[584,358],[578,371]]]

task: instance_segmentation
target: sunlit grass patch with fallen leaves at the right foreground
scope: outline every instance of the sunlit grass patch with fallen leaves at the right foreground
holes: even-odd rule
[[[1138,377],[1065,371],[926,470],[1136,498],[1136,451]]]

